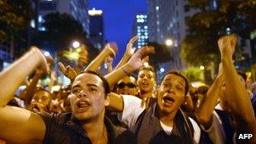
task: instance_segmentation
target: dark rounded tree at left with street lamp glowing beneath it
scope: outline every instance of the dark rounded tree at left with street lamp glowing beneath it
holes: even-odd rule
[[[40,31],[35,36],[35,45],[39,45],[47,51],[56,52],[59,61],[66,65],[72,65],[73,62],[67,60],[64,55],[72,47],[74,40],[87,45],[88,61],[92,61],[99,54],[99,50],[87,40],[82,24],[67,13],[49,13],[45,15],[42,26],[45,27],[45,31]]]

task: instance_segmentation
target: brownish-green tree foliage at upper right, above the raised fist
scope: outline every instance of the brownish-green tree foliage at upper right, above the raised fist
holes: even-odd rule
[[[190,65],[218,62],[217,40],[221,35],[229,32],[248,38],[248,32],[256,28],[255,0],[216,2],[217,7],[211,8],[211,0],[189,0],[189,7],[198,13],[186,19],[189,34],[182,42],[181,56]]]

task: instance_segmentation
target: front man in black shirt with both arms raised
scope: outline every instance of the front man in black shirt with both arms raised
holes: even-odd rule
[[[142,66],[141,58],[153,52],[142,48],[127,64],[110,74],[108,82],[95,72],[82,72],[72,83],[72,113],[35,114],[27,109],[7,106],[15,91],[35,68],[49,73],[45,56],[36,47],[0,72],[0,139],[8,143],[123,143],[115,139],[111,122],[104,117],[109,104],[109,85],[131,67]],[[132,139],[131,139],[132,140]]]

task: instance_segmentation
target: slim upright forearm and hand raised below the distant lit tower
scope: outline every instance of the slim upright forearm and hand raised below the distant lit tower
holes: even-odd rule
[[[129,42],[126,46],[125,54],[122,57],[122,59],[120,60],[120,62],[117,64],[117,66],[115,67],[115,70],[122,67],[130,59],[130,57],[134,54],[135,49],[132,48],[132,45],[134,44],[134,42],[136,40],[138,40],[138,36],[134,36],[131,38],[131,40],[129,40]]]

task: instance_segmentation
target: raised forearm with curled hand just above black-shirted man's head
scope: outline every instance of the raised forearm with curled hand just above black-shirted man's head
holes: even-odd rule
[[[88,65],[88,67],[85,68],[84,71],[96,72],[104,62],[105,58],[109,55],[115,55],[116,51],[117,45],[115,45],[115,43],[105,45],[104,50],[99,53],[99,55]]]

